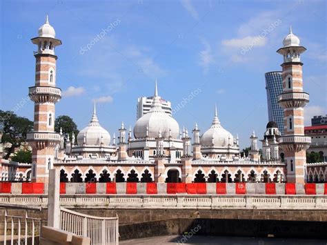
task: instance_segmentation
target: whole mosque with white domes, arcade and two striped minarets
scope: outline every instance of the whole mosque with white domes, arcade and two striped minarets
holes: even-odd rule
[[[38,47],[35,85],[29,88],[34,102],[32,181],[48,182],[50,168],[60,170],[61,182],[304,182],[306,148],[303,108],[309,97],[303,92],[299,38],[290,30],[283,47],[284,89],[279,104],[284,108],[284,135],[270,121],[259,152],[259,139],[250,135],[247,156],[240,153],[239,138],[220,123],[217,108],[212,124],[201,134],[197,124],[192,132],[161,105],[157,82],[150,110],[137,119],[134,129],[122,123],[119,135],[110,135],[97,117],[96,105],[90,123],[72,139],[54,132],[55,104],[61,99],[56,87],[57,56],[61,45],[54,28],[46,23],[32,39]],[[212,106],[213,109],[213,106]]]

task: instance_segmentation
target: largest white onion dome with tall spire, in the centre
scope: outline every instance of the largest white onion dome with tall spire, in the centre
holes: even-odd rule
[[[135,123],[134,137],[137,139],[146,137],[157,138],[159,131],[161,131],[161,137],[164,138],[172,137],[173,139],[177,139],[179,136],[179,125],[177,121],[161,108],[156,80],[155,97],[153,97],[151,109]]]

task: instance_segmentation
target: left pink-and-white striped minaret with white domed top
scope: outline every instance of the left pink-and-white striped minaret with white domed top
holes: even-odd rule
[[[38,47],[34,52],[35,86],[28,91],[34,102],[34,131],[27,137],[32,146],[32,182],[48,182],[54,148],[61,144],[61,135],[54,133],[54,104],[61,99],[61,89],[56,87],[57,56],[54,55],[54,48],[61,41],[55,35],[47,16],[46,23],[39,28],[39,37],[32,39]]]

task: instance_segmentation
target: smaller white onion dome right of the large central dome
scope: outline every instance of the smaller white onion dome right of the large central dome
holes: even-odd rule
[[[220,124],[217,115],[217,106],[215,107],[215,117],[213,118],[211,127],[206,130],[201,139],[202,146],[213,146],[227,148],[228,144],[232,145],[234,137]]]

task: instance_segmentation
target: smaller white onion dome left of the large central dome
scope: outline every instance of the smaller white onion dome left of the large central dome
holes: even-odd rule
[[[84,143],[89,146],[99,146],[101,144],[108,146],[110,144],[110,133],[100,126],[95,108],[90,124],[79,131],[77,135],[77,144],[83,145]]]

